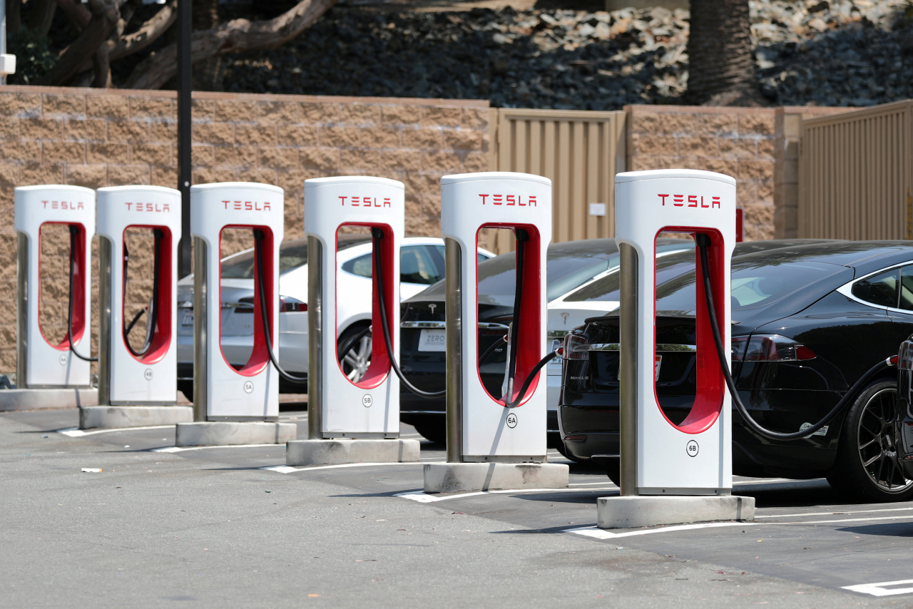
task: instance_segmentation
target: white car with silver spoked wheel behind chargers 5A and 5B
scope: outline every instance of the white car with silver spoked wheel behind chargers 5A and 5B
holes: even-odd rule
[[[367,235],[339,238],[336,335],[340,345],[371,323],[372,243]],[[494,257],[479,248],[479,260]],[[254,250],[222,260],[222,352],[240,367],[253,350]],[[407,299],[444,277],[444,241],[405,237],[400,250],[400,298]],[[178,281],[178,385],[188,398],[194,380],[194,276]],[[279,365],[296,376],[308,373],[308,239],[292,239],[279,247]],[[353,380],[370,362],[371,339],[353,345],[342,362]],[[283,391],[303,392],[303,383],[280,381]]]

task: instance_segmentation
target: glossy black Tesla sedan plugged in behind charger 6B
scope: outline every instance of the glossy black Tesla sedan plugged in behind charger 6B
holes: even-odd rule
[[[679,423],[695,394],[693,252],[657,265],[656,395]],[[876,362],[913,333],[913,245],[823,242],[732,258],[732,373],[741,401],[762,426],[800,431],[820,420]],[[603,294],[617,300],[611,276]],[[617,310],[590,318],[565,341],[559,425],[568,457],[617,477]],[[662,358],[659,360],[659,358]],[[732,471],[740,476],[822,478],[876,501],[908,499],[913,479],[897,465],[897,375],[886,372],[811,436],[773,441],[732,411]],[[614,471],[613,471],[614,468]],[[617,481],[617,479],[616,479]]]

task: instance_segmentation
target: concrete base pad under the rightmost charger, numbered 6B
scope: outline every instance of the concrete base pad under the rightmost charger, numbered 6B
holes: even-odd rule
[[[754,498],[734,495],[600,497],[596,526],[632,529],[718,520],[754,521]]]

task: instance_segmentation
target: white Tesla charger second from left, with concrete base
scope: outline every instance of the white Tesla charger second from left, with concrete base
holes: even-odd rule
[[[162,186],[113,186],[98,190],[99,406],[81,408],[79,426],[171,425],[193,421],[177,395],[177,247],[181,240],[181,193]],[[152,234],[152,299],[142,314],[125,317],[136,254],[128,229]],[[131,261],[131,254],[133,259]],[[132,268],[131,268],[132,262]],[[135,279],[134,279],[135,280]],[[142,346],[128,341],[132,327]]]

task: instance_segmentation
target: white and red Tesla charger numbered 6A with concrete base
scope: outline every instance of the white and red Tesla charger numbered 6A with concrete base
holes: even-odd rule
[[[484,229],[525,231],[513,400],[546,347],[546,252],[551,242],[551,180],[526,173],[464,173],[441,178],[446,255],[447,463],[425,465],[425,492],[562,488],[568,468],[546,461],[544,370],[516,407],[489,394],[478,373],[477,245]]]

